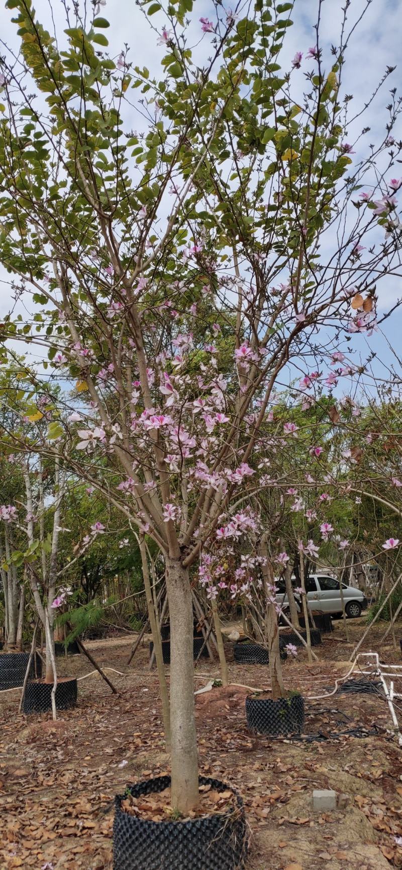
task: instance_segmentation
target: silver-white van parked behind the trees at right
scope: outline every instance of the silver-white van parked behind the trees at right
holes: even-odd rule
[[[279,588],[277,594],[278,603],[286,611],[288,604],[285,594],[285,580],[283,578],[275,580]],[[292,586],[298,586],[295,577],[291,578]],[[362,610],[367,606],[367,599],[364,592],[357,589],[355,586],[346,586],[342,584],[345,601],[346,616],[355,619],[360,616]],[[332,616],[342,615],[342,601],[340,598],[339,580],[329,577],[328,574],[310,574],[305,581],[305,591],[312,612],[331,613]],[[299,596],[298,596],[299,598]],[[296,599],[298,611],[301,611],[301,604]]]

